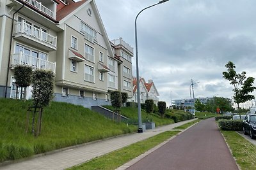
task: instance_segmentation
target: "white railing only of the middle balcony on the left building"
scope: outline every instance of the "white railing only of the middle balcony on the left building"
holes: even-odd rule
[[[35,39],[48,43],[49,45],[52,45],[54,47],[57,46],[57,36],[47,34],[46,32],[27,24],[26,22],[24,22],[24,20],[15,24],[15,33],[27,34]]]

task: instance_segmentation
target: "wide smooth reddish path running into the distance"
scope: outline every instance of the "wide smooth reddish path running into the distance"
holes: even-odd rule
[[[202,120],[128,169],[225,169],[236,170],[236,162],[214,118]]]

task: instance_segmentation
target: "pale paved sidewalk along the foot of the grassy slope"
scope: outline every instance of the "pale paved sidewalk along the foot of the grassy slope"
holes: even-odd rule
[[[79,146],[70,150],[65,150],[58,153],[52,153],[51,155],[45,155],[31,160],[25,160],[23,162],[10,164],[8,166],[0,167],[1,170],[19,169],[66,169],[68,167],[76,166],[95,157],[100,157],[106,153],[113,152],[124,146],[131,145],[143,139],[150,138],[164,131],[170,131],[174,127],[191,122],[192,120],[186,120],[176,124],[170,124],[163,127],[157,127],[156,129],[147,130],[142,134],[129,134],[125,136],[119,136],[116,138],[106,139],[88,145]]]

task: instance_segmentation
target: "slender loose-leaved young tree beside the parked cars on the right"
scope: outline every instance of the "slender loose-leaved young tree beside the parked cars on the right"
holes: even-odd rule
[[[234,86],[234,101],[237,104],[237,108],[239,110],[239,104],[245,103],[246,101],[250,101],[255,97],[250,94],[256,88],[253,87],[253,77],[246,78],[246,72],[236,73],[236,66],[233,62],[229,61],[225,67],[227,67],[227,71],[223,72],[223,78],[230,81],[230,84]],[[240,115],[240,113],[239,113]],[[240,115],[241,118],[241,115]]]

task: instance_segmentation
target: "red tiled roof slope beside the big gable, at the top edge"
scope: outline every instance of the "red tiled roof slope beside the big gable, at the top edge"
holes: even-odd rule
[[[77,3],[74,1],[68,1],[68,4],[57,11],[57,18],[56,20],[60,21],[61,19],[65,18],[68,14],[72,13],[72,11],[76,10],[79,6],[84,4],[88,0],[82,0]]]

